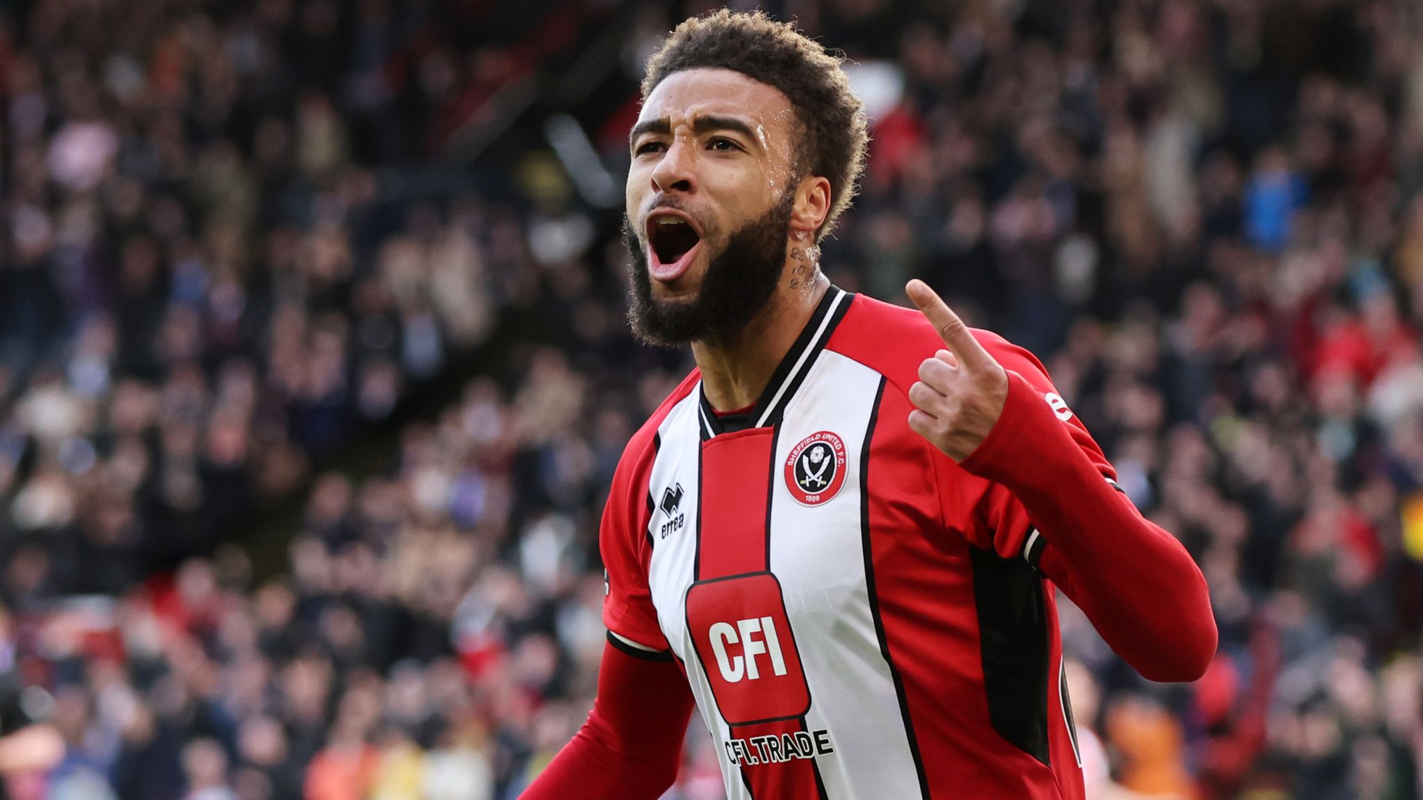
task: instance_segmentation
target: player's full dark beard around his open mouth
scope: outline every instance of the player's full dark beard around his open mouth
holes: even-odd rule
[[[623,242],[632,253],[628,322],[633,335],[647,344],[677,347],[700,340],[724,342],[741,333],[771,300],[785,272],[785,233],[794,199],[794,192],[785,192],[764,216],[733,231],[721,251],[709,255],[702,288],[690,300],[653,298],[647,252],[625,216]]]

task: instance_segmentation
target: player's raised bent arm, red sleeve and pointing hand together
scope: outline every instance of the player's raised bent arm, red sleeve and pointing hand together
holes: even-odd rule
[[[1215,655],[1215,619],[1181,542],[1114,488],[1086,427],[1056,394],[1049,404],[1052,383],[1032,354],[995,344],[995,357],[932,289],[918,280],[908,289],[949,347],[919,366],[909,427],[998,484],[989,510],[998,552],[1029,562],[1039,554],[1040,569],[1144,678],[1200,678]]]

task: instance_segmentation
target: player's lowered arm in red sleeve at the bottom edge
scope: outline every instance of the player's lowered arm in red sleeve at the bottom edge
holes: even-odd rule
[[[692,690],[670,658],[630,649],[603,648],[588,722],[524,800],[656,800],[676,780]]]

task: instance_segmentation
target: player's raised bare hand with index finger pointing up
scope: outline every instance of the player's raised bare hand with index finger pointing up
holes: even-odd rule
[[[905,292],[948,347],[919,364],[919,380],[909,387],[915,404],[909,428],[949,458],[963,461],[1003,413],[1007,372],[924,280],[911,280]]]

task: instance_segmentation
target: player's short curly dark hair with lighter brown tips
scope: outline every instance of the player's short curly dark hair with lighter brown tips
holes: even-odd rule
[[[667,75],[720,68],[776,87],[790,101],[805,135],[795,151],[795,171],[830,181],[830,212],[815,232],[822,239],[855,196],[869,141],[865,105],[850,88],[842,56],[763,11],[726,9],[686,20],[647,60],[646,98]]]

